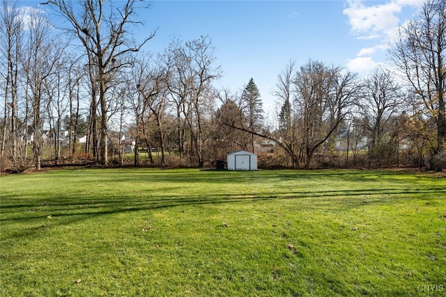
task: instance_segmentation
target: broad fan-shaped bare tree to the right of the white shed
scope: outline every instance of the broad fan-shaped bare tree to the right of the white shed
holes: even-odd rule
[[[308,168],[316,150],[344,120],[359,86],[357,75],[318,61],[309,61],[301,66],[295,84],[305,167]]]

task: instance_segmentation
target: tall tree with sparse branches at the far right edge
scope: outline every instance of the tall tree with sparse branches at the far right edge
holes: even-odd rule
[[[401,27],[390,57],[417,96],[417,106],[435,119],[441,155],[446,142],[446,1],[427,0],[420,14]]]

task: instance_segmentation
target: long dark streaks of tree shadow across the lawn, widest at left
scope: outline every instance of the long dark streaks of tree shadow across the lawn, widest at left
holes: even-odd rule
[[[118,213],[157,211],[163,208],[181,206],[234,204],[256,201],[295,199],[314,199],[312,209],[317,207],[321,210],[348,211],[351,208],[364,208],[366,206],[401,204],[407,199],[429,199],[426,195],[446,194],[442,188],[430,189],[366,189],[366,190],[321,190],[305,192],[263,192],[262,195],[252,194],[213,194],[212,197],[205,195],[178,195],[167,197],[63,197],[63,199],[47,199],[44,204],[17,204],[4,205],[2,203],[2,217],[14,213],[15,218],[0,218],[0,221],[29,221],[33,227],[26,228],[15,234],[3,234],[3,238],[20,238],[30,236],[42,226],[41,222],[48,215],[53,218],[65,217],[64,220],[52,221],[52,226],[75,224],[82,220],[89,220],[102,215],[115,215]],[[41,199],[39,200],[41,201]],[[29,208],[24,210],[25,208]],[[24,215],[26,212],[26,215]]]

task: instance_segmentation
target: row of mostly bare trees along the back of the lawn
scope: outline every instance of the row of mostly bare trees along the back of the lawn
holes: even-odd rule
[[[139,148],[159,166],[203,167],[238,149],[269,167],[446,165],[444,1],[426,1],[400,27],[392,69],[359,77],[289,61],[268,117],[254,79],[236,93],[215,87],[222,68],[209,36],[144,52],[156,33],[134,39],[144,1],[49,0],[61,29],[40,10],[24,17],[18,1],[1,1],[2,169],[40,169],[48,147],[55,162],[84,155],[109,165],[118,156],[122,165],[123,135],[134,142],[134,165]],[[58,137],[45,144],[45,129],[66,130],[67,146]]]

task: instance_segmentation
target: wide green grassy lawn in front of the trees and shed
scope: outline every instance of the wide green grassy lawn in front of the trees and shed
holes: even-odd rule
[[[0,296],[446,292],[444,177],[63,169],[0,187]]]

